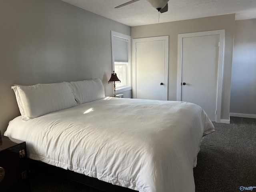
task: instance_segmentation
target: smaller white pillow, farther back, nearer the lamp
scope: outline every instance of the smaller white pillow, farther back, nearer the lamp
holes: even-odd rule
[[[105,98],[104,87],[100,79],[88,79],[70,82],[70,87],[79,104]]]

